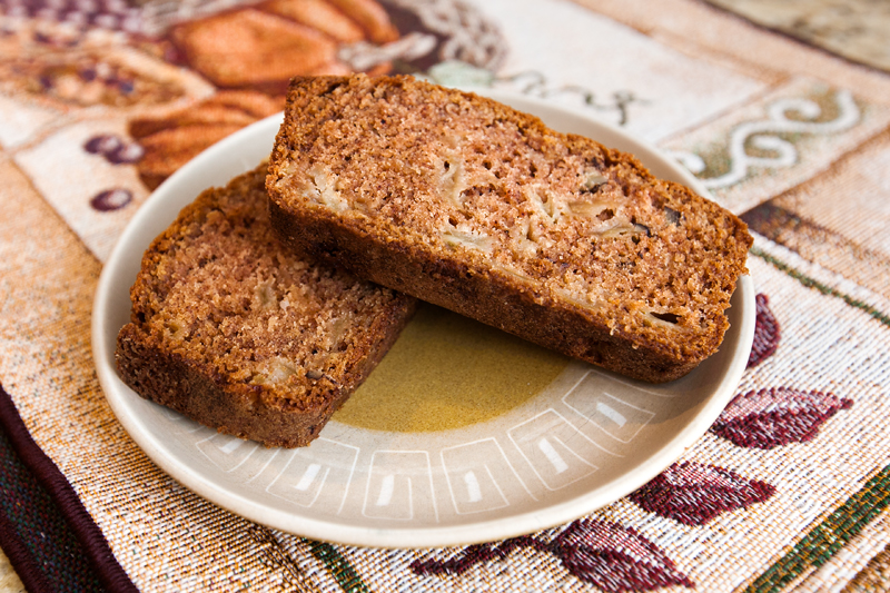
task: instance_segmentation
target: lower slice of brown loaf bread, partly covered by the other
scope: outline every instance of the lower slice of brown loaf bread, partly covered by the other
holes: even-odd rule
[[[266,167],[204,191],[146,251],[118,336],[139,395],[266,446],[303,446],[414,310],[405,295],[293,255]]]

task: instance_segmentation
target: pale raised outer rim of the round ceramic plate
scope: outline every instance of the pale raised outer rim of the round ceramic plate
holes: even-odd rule
[[[643,160],[646,166],[649,166],[646,158],[655,157],[660,159],[662,164],[666,164],[666,166],[673,169],[673,171],[683,179],[685,185],[691,186],[692,189],[699,194],[711,198],[708,190],[698,179],[653,145],[594,117],[592,113],[520,93],[495,91],[494,89],[473,90],[481,95],[501,100],[502,102],[512,102],[513,105],[520,103],[522,105],[520,109],[523,109],[525,106],[532,106],[535,109],[541,108],[554,112],[561,111],[572,117],[586,119],[594,126],[602,127],[613,135],[624,137],[627,141],[643,148],[643,151],[647,154],[645,157],[641,158],[641,160]],[[733,354],[729,367],[724,373],[724,378],[720,382],[714,392],[705,398],[705,403],[699,413],[682,431],[676,433],[673,438],[662,443],[662,446],[632,471],[631,474],[622,476],[621,480],[613,480],[605,485],[599,486],[593,492],[587,492],[568,501],[556,503],[544,508],[524,511],[506,517],[483,520],[461,525],[441,527],[354,526],[345,523],[319,521],[313,518],[310,513],[295,514],[293,512],[269,507],[261,502],[254,501],[248,496],[243,496],[227,488],[225,482],[220,483],[218,480],[212,480],[209,476],[196,472],[185,461],[177,458],[175,455],[170,455],[164,447],[162,435],[158,436],[150,431],[129,407],[127,397],[138,398],[139,396],[117,376],[113,364],[115,340],[111,340],[111,344],[109,344],[107,339],[108,325],[106,324],[105,314],[110,310],[110,297],[113,293],[115,283],[120,280],[120,269],[134,257],[132,241],[146,235],[145,229],[141,228],[142,223],[154,216],[164,216],[165,214],[170,215],[170,220],[172,220],[178,214],[178,209],[174,213],[168,213],[171,208],[165,205],[167,201],[174,199],[172,197],[168,197],[168,195],[184,191],[184,189],[179,189],[179,186],[188,185],[187,181],[194,175],[192,170],[201,168],[205,164],[212,162],[219,156],[228,155],[248,138],[253,138],[255,135],[266,134],[266,128],[277,126],[281,117],[281,113],[276,113],[220,140],[176,171],[152,191],[121,233],[111,255],[102,267],[93,297],[91,347],[97,375],[106,399],[111,406],[116,418],[120,422],[136,445],[139,446],[161,471],[182,484],[186,488],[249,521],[255,521],[291,534],[336,544],[382,548],[431,548],[491,542],[571,522],[580,516],[602,508],[637,490],[654,478],[698,442],[729,403],[741,382],[742,374],[746,367],[748,353],[750,353],[753,343],[755,322],[754,288],[753,281],[748,275],[740,277],[736,283],[736,293],[739,293],[742,307],[741,327],[738,328],[739,335],[736,336],[739,340],[736,352]],[[233,172],[229,177],[238,172],[240,171]],[[201,187],[206,188],[207,185],[204,184]],[[199,191],[196,191],[194,195],[197,196],[198,192]],[[151,238],[154,238],[154,235]],[[141,261],[141,253],[139,254],[139,260]],[[115,329],[115,336],[119,328]],[[732,328],[730,328],[730,332]],[[121,392],[121,388],[125,391]],[[129,394],[127,394],[127,392],[129,392]]]

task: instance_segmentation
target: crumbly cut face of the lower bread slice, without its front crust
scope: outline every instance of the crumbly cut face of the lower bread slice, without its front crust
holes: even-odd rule
[[[406,315],[411,299],[285,249],[265,176],[261,166],[204,191],[155,239],[130,290],[131,324],[217,387],[310,409],[328,405],[382,318]]]

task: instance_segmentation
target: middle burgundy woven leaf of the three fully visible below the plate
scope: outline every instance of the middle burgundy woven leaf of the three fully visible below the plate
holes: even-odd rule
[[[722,467],[683,462],[670,466],[630,500],[684,525],[704,525],[721,513],[762,503],[774,492],[771,484]]]

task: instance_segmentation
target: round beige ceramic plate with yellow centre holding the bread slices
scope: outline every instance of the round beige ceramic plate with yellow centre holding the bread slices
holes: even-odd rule
[[[655,175],[706,195],[674,161],[586,112],[491,95],[553,128],[633,152]],[[230,136],[159,187],[120,237],[96,293],[92,344],[108,401],[136,443],[186,487],[249,520],[329,542],[498,540],[636,490],[700,438],[734,394],[754,332],[748,277],[720,350],[666,385],[599,370],[431,306],[309,447],[267,449],[140,398],[118,378],[113,350],[144,250],[200,190],[265,158],[279,122]]]

